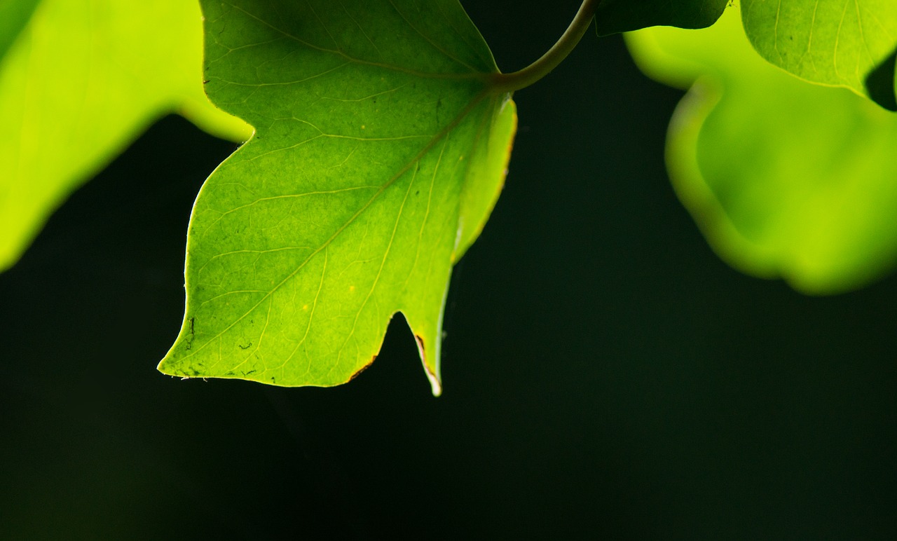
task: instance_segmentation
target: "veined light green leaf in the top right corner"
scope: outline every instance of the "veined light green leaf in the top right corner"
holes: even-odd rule
[[[772,64],[897,109],[894,0],[742,0],[742,5],[748,39]]]

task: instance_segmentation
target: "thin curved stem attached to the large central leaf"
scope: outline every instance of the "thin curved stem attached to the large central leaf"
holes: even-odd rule
[[[595,16],[595,9],[600,0],[583,0],[579,11],[564,31],[561,39],[552,48],[548,49],[536,62],[527,65],[520,71],[510,74],[494,74],[490,79],[492,92],[514,92],[536,83],[545,75],[561,64],[562,60],[570,54],[570,51],[579,43],[579,39],[588,31],[588,26]]]

